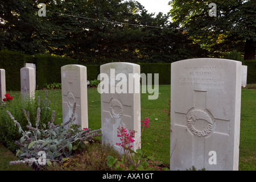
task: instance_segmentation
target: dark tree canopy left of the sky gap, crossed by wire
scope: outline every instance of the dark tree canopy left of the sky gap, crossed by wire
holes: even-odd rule
[[[46,16],[38,16],[39,3]],[[136,1],[0,2],[0,49],[49,53],[90,64],[171,63],[206,56],[169,16],[149,14]]]

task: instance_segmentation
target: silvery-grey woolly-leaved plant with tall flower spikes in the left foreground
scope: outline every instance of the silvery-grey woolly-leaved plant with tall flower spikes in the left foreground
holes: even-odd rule
[[[40,118],[40,106],[37,109],[35,126],[32,126],[29,115],[27,116],[27,131],[20,126],[19,122],[15,120],[13,115],[7,111],[7,114],[18,127],[18,132],[22,137],[15,142],[19,146],[16,156],[20,160],[10,162],[10,164],[27,163],[35,169],[42,169],[43,167],[52,166],[57,162],[65,161],[73,154],[73,151],[83,148],[84,141],[90,140],[93,137],[101,136],[99,134],[101,129],[90,131],[90,129],[81,130],[77,125],[75,118],[76,102],[73,105],[72,118],[68,122],[55,125],[55,111],[52,111],[51,121],[46,123]],[[39,155],[39,152],[44,152],[44,162]]]

